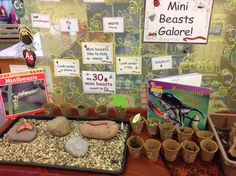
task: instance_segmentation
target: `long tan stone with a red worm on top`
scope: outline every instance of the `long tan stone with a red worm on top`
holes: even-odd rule
[[[79,128],[82,136],[93,139],[111,139],[119,131],[119,125],[109,120],[97,120],[83,123]]]

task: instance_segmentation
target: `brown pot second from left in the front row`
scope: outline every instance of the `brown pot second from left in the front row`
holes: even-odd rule
[[[156,139],[147,139],[144,142],[144,148],[147,155],[147,158],[151,161],[157,161],[160,149],[161,149],[161,142]]]

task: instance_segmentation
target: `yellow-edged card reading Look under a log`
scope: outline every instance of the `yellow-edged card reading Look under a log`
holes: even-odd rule
[[[116,58],[116,74],[142,74],[142,58],[141,57],[117,57]]]

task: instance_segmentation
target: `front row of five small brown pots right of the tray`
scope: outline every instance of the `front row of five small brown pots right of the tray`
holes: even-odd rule
[[[156,139],[143,140],[140,136],[130,136],[127,140],[129,153],[133,158],[139,158],[145,149],[146,156],[151,161],[157,161],[161,148],[164,151],[166,161],[175,161],[182,148],[183,160],[186,163],[193,163],[201,148],[201,158],[204,161],[211,161],[218,150],[218,145],[212,139],[204,139],[199,146],[190,140],[177,142],[173,139],[166,139],[162,144]]]

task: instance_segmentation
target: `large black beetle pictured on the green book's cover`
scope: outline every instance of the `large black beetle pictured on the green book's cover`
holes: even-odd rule
[[[184,126],[185,124],[185,126],[197,128],[200,119],[205,118],[201,111],[183,104],[181,100],[171,93],[154,95],[152,92],[151,95],[155,97],[157,102],[159,102],[160,107],[155,106],[154,103],[149,100],[149,108],[154,114],[165,119],[166,121],[172,122],[179,126]],[[197,118],[196,115],[200,118]]]

